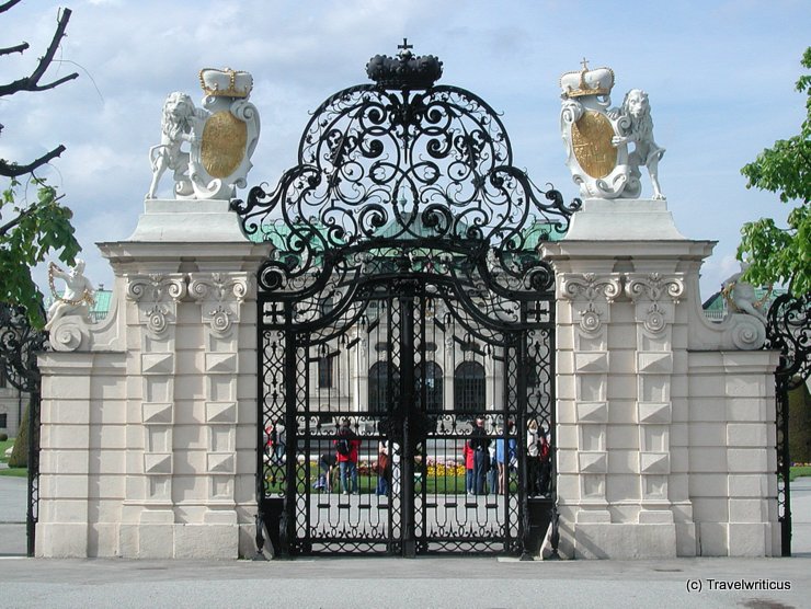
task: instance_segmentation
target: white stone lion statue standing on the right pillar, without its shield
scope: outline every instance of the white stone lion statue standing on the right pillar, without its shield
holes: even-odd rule
[[[653,198],[664,199],[662,188],[659,185],[659,160],[664,154],[661,148],[653,141],[653,119],[651,118],[651,106],[648,102],[648,93],[641,89],[631,89],[622,100],[622,106],[615,115],[619,116],[620,135],[612,138],[612,143],[633,143],[633,152],[628,154],[628,164],[631,174],[639,179],[639,168],[644,165],[651,176]]]

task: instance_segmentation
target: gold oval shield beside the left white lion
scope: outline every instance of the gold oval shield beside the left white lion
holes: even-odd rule
[[[201,161],[212,177],[228,177],[245,156],[248,125],[230,112],[217,112],[203,128]]]

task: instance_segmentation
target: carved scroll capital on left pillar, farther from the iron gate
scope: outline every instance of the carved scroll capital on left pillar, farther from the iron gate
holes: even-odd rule
[[[138,306],[138,321],[152,338],[164,338],[176,319],[178,302],[186,295],[184,275],[137,275],[129,278],[127,299]]]

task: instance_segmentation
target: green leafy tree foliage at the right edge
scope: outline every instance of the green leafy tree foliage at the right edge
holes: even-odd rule
[[[811,47],[800,61],[811,70]],[[738,258],[750,263],[743,278],[755,285],[785,283],[795,296],[811,294],[811,74],[797,81],[797,91],[807,94],[807,116],[800,134],[780,139],[765,149],[741,173],[747,188],[778,193],[783,203],[799,200],[779,228],[770,218],[746,222],[738,246]]]

